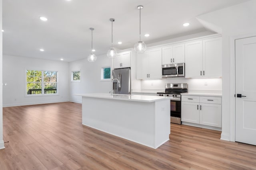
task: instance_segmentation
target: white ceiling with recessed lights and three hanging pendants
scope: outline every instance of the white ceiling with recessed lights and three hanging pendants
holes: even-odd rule
[[[76,61],[91,51],[95,55],[133,47],[139,40],[141,10],[142,41],[146,44],[177,35],[205,31],[196,16],[248,0],[3,0],[3,54],[40,59]],[[48,21],[41,21],[45,16]],[[189,22],[190,26],[182,24]],[[150,37],[144,37],[149,33]],[[117,42],[122,41],[122,45]],[[39,49],[45,49],[44,52]]]

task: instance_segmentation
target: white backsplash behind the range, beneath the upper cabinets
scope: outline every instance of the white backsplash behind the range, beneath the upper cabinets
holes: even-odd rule
[[[222,78],[163,78],[160,80],[141,80],[141,89],[163,90],[166,83],[188,83],[188,92],[222,92]]]

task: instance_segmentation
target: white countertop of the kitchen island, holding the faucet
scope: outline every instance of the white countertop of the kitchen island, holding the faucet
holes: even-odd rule
[[[169,97],[164,96],[146,96],[146,95],[129,95],[129,94],[111,94],[108,93],[88,93],[88,94],[75,94],[82,97],[90,97],[90,98],[104,98],[104,99],[112,99],[112,100],[127,100],[127,101],[136,101],[136,102],[156,102],[160,100],[170,100]]]

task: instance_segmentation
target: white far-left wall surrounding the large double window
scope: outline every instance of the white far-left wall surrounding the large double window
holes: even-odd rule
[[[58,71],[58,95],[26,96],[25,70]],[[21,106],[69,101],[68,63],[3,55],[3,106]]]

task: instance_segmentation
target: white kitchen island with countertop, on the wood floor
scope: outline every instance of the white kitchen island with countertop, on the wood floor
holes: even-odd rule
[[[169,140],[170,98],[105,93],[82,96],[82,125],[158,148]]]

